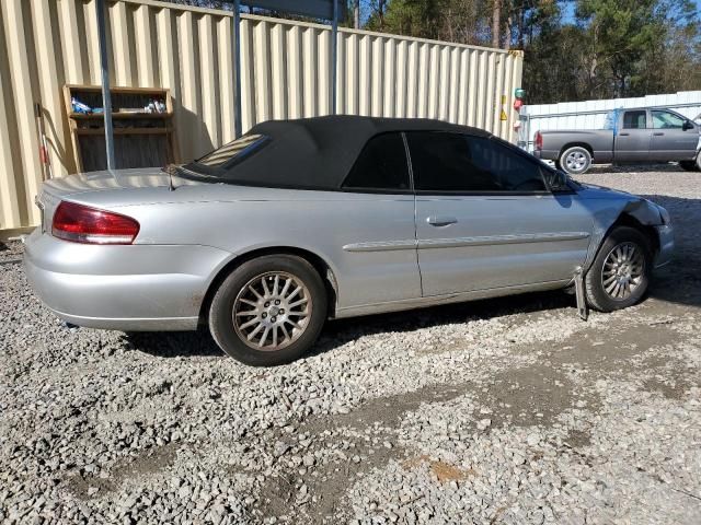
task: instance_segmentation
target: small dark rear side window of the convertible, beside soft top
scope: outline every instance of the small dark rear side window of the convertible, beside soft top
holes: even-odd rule
[[[371,138],[350,168],[343,187],[386,191],[411,189],[402,135],[382,133]]]

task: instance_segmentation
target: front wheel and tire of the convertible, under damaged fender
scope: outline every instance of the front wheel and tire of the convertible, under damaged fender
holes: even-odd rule
[[[617,267],[620,262],[623,265]],[[652,268],[650,238],[634,228],[614,228],[601,244],[585,277],[587,302],[599,312],[632,306],[647,291]],[[616,276],[617,270],[621,271],[619,277]],[[628,290],[625,284],[621,284],[627,278]]]

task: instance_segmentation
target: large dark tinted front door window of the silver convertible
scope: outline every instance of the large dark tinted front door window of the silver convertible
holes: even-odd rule
[[[424,191],[544,191],[540,166],[499,142],[459,133],[406,133],[414,185]]]

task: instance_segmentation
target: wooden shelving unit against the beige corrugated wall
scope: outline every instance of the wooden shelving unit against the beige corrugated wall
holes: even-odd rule
[[[170,90],[157,88],[112,88],[112,124],[115,137],[117,167],[158,166],[179,162],[177,140],[173,122]],[[74,97],[95,110],[102,107],[99,85],[67,84],[64,86],[66,113],[70,122],[73,155],[79,172],[105,170],[104,115],[73,113]],[[165,105],[163,113],[138,110],[151,101]]]

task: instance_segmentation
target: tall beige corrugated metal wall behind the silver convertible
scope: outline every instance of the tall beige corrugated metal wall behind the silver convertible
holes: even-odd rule
[[[171,90],[182,160],[232,139],[231,14],[152,0],[106,3],[111,81]],[[61,90],[100,84],[95,9],[95,0],[0,1],[0,231],[38,221],[35,102],[55,175],[76,170]],[[330,26],[243,15],[241,52],[244,131],[331,113]],[[514,138],[520,51],[341,30],[338,63],[337,113],[440,118]]]

